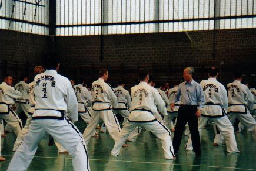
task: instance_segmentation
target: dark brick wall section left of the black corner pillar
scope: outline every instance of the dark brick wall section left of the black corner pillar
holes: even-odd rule
[[[0,29],[0,79],[6,73],[14,76],[15,83],[22,73],[29,73],[32,79],[32,69],[48,49],[48,40],[48,36]]]

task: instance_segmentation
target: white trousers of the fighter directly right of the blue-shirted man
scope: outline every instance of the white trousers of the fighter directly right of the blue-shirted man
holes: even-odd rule
[[[201,139],[202,129],[207,124],[208,120],[214,121],[215,125],[218,128],[217,132],[218,132],[218,130],[220,130],[220,134],[224,136],[225,143],[227,146],[227,152],[229,152],[229,153],[240,152],[237,149],[237,141],[235,141],[234,128],[226,115],[224,117],[217,117],[217,118],[209,118],[209,117],[204,117],[204,116],[201,116],[200,118],[198,118],[198,131],[200,134],[200,139]],[[217,139],[215,141],[217,141]],[[192,151],[192,149],[193,149],[190,135],[188,138],[188,142],[186,144],[186,149],[190,150],[190,151]]]

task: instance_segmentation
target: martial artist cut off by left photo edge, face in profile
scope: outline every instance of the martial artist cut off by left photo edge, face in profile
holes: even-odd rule
[[[4,82],[0,84],[0,122],[4,119],[9,126],[14,130],[15,134],[18,136],[22,129],[22,122],[18,115],[12,111],[10,105],[14,104],[14,99],[20,98],[22,93],[15,90],[12,85],[12,77],[6,76]],[[1,141],[0,141],[1,147]],[[1,148],[0,148],[1,156]],[[4,160],[0,157],[0,160]]]

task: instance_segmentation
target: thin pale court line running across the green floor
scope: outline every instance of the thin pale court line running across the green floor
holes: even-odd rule
[[[3,155],[12,157],[12,155]],[[60,158],[60,157],[43,157],[43,156],[34,156],[34,158],[53,158],[53,159],[72,159],[72,158]],[[199,167],[214,167],[214,168],[224,168],[224,169],[240,169],[240,170],[255,170],[255,169],[244,169],[239,167],[222,167],[222,166],[207,166],[207,165],[188,165],[188,164],[175,164],[175,163],[158,163],[158,162],[137,162],[137,161],[125,161],[125,160],[105,160],[105,159],[89,159],[105,162],[130,162],[130,163],[149,163],[149,164],[160,164],[160,165],[181,165],[181,166],[199,166]],[[173,160],[175,161],[175,160]]]

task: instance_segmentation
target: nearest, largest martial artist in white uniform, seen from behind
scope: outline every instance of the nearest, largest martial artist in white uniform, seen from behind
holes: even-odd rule
[[[57,73],[59,62],[55,54],[44,57],[46,71],[35,77],[35,112],[24,142],[16,150],[8,170],[26,170],[38,143],[46,133],[60,142],[72,156],[74,170],[89,170],[88,154],[82,134],[72,121],[78,119],[77,98],[66,77]],[[68,113],[70,119],[65,118]]]

